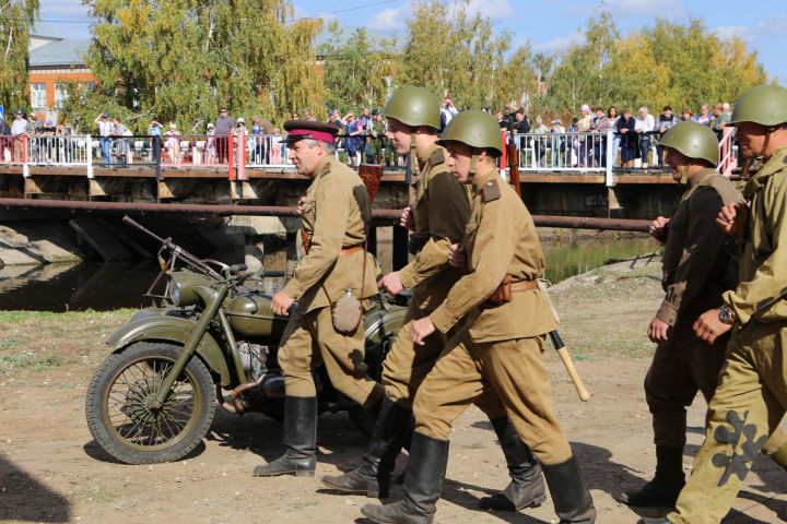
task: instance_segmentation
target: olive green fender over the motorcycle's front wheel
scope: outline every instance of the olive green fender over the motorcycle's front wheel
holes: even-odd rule
[[[196,324],[192,320],[178,317],[134,315],[129,323],[109,335],[106,343],[115,352],[121,352],[130,344],[140,341],[167,341],[185,344]],[[221,385],[228,385],[230,369],[221,346],[210,333],[202,336],[202,341],[197,346],[197,353],[208,367],[221,377]]]

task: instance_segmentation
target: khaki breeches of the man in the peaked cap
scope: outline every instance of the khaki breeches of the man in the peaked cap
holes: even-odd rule
[[[315,396],[312,369],[321,361],[333,388],[364,407],[374,407],[383,400],[383,388],[366,377],[363,359],[363,323],[354,334],[344,336],[333,329],[330,308],[305,314],[296,310],[287,322],[279,349],[285,394]]]

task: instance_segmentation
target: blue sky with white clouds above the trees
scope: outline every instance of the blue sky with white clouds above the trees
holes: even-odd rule
[[[514,36],[514,46],[530,41],[535,50],[559,51],[577,38],[600,1],[469,0],[471,12],[491,17],[500,31]],[[294,0],[295,16],[338,19],[345,27],[361,25],[400,34],[411,12],[410,0]],[[785,0],[607,0],[607,8],[624,34],[653,25],[657,16],[672,21],[701,17],[721,36],[741,36],[757,51],[770,74],[787,85],[787,2]],[[80,0],[40,0],[40,17],[66,37],[89,37],[87,9]],[[708,64],[712,68],[713,64]]]

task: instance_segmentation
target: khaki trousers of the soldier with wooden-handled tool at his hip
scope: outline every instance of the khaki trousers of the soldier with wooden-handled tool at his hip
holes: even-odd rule
[[[446,346],[415,395],[415,431],[448,440],[454,420],[467,406],[494,392],[519,438],[542,464],[572,456],[552,407],[543,366],[542,336],[473,343],[461,330]]]

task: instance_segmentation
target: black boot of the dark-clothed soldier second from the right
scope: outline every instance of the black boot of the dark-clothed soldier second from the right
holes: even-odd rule
[[[623,502],[638,508],[674,508],[685,485],[683,448],[656,446],[656,475],[637,491],[623,493]]]

